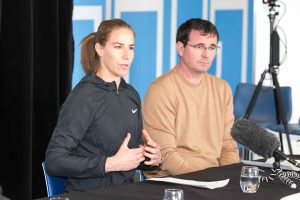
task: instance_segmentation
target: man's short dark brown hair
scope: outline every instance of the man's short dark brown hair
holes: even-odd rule
[[[176,43],[180,41],[186,46],[192,30],[201,31],[203,35],[215,35],[217,41],[219,41],[219,33],[214,24],[204,19],[192,18],[181,24],[177,29]]]

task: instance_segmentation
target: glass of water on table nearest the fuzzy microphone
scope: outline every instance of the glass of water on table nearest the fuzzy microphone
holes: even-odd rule
[[[254,166],[243,166],[240,177],[240,186],[245,193],[255,193],[260,184],[259,169]]]

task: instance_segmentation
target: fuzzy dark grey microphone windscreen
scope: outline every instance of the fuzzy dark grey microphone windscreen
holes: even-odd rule
[[[247,119],[238,119],[234,122],[231,136],[236,142],[266,159],[272,157],[275,149],[280,146],[274,134]]]

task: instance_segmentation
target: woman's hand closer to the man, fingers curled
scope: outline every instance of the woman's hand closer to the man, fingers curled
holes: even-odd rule
[[[145,165],[158,166],[162,163],[162,156],[160,153],[160,147],[156,144],[147,133],[145,129],[142,130],[144,139],[144,156],[150,160],[144,162]]]

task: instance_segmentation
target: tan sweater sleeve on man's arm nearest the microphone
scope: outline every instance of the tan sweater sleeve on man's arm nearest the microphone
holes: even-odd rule
[[[228,165],[240,162],[239,151],[236,142],[230,135],[231,128],[234,122],[233,114],[233,97],[230,86],[226,84],[225,90],[225,112],[224,112],[224,133],[223,133],[223,146],[219,159],[220,165]]]

